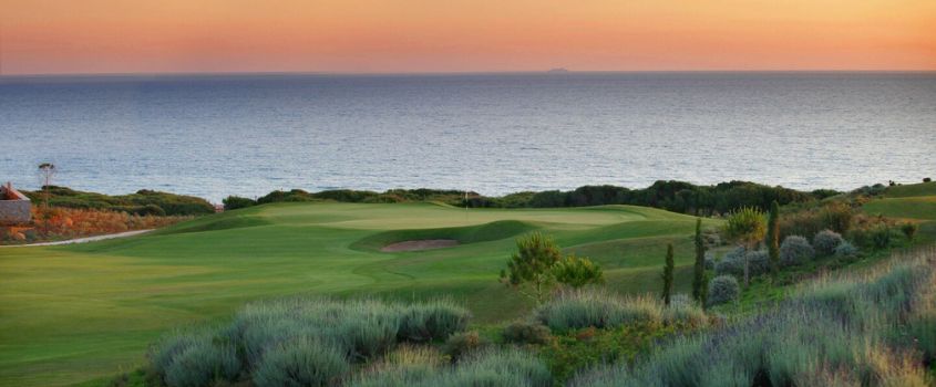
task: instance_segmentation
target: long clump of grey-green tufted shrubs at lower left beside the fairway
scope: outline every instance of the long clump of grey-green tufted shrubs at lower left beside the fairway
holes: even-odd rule
[[[150,360],[169,387],[238,378],[257,386],[331,385],[353,364],[379,358],[401,342],[448,337],[463,331],[469,318],[464,307],[449,300],[281,299],[248,304],[219,330],[166,337],[153,347]],[[206,376],[175,377],[185,374],[179,365]]]

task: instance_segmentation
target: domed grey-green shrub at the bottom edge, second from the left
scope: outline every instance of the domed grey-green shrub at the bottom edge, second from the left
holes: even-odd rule
[[[339,347],[306,337],[281,343],[265,354],[254,372],[254,385],[331,386],[349,369]]]

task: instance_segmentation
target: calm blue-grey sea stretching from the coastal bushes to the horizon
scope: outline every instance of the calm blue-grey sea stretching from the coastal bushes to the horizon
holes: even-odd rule
[[[219,200],[936,177],[936,74],[0,79],[0,180]]]

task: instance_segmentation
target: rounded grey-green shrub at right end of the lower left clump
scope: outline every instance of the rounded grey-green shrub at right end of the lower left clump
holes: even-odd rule
[[[399,337],[412,342],[442,339],[464,331],[471,312],[448,299],[408,305],[403,311]]]

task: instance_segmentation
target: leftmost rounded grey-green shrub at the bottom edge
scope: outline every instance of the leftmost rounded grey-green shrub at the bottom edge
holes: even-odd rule
[[[240,373],[240,360],[232,345],[215,345],[199,341],[173,358],[166,368],[165,381],[169,387],[209,386],[216,380],[235,380]]]

